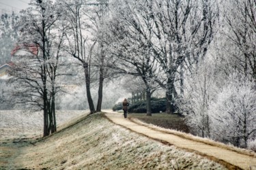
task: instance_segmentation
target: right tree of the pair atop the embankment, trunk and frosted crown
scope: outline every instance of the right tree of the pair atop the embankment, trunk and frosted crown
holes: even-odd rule
[[[109,39],[106,38],[106,18],[109,17],[109,1],[100,0],[97,3],[91,3],[85,5],[89,6],[86,12],[88,17],[87,24],[89,26],[88,31],[91,37],[96,39],[96,45],[93,52],[93,57],[91,65],[96,67],[94,77],[96,78],[96,83],[98,85],[98,103],[96,107],[96,112],[101,111],[102,99],[103,99],[103,86],[104,80],[106,78],[112,77],[110,71],[107,69],[106,65],[109,63],[109,53],[108,46],[106,43]]]

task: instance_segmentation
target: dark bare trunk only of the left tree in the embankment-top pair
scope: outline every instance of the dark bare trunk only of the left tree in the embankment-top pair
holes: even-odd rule
[[[87,101],[89,104],[90,114],[94,114],[95,108],[94,108],[94,101],[91,99],[91,88],[90,88],[91,80],[89,77],[88,63],[83,63],[83,68],[85,69],[85,86],[86,86]]]

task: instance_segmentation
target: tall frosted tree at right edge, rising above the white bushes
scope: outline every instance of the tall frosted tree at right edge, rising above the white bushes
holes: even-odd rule
[[[223,10],[223,60],[241,73],[256,78],[256,2],[254,0],[225,1]],[[222,40],[223,41],[223,40]],[[228,56],[228,57],[227,57]]]

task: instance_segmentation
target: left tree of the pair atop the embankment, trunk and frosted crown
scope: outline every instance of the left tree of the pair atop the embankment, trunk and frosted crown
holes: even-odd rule
[[[87,101],[91,114],[96,112],[91,97],[91,57],[97,39],[91,38],[87,33],[88,24],[85,22],[85,5],[81,0],[63,2],[66,9],[66,22],[70,30],[66,32],[68,39],[66,52],[76,58],[83,65],[85,73],[85,86]]]

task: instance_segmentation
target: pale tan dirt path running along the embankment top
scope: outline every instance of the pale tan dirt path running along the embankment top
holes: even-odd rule
[[[240,154],[231,150],[226,150],[224,148],[219,148],[217,146],[211,146],[198,141],[184,139],[177,135],[156,131],[150,127],[132,122],[128,119],[124,119],[124,116],[120,113],[111,112],[109,110],[104,110],[104,112],[107,112],[106,117],[113,121],[115,124],[124,126],[131,131],[141,133],[152,139],[157,139],[163,143],[170,143],[177,148],[182,148],[190,152],[196,152],[197,154],[207,156],[208,158],[212,158],[212,160],[223,163],[229,167],[229,169],[256,169],[255,157]],[[232,167],[232,165],[234,165],[234,167]]]

